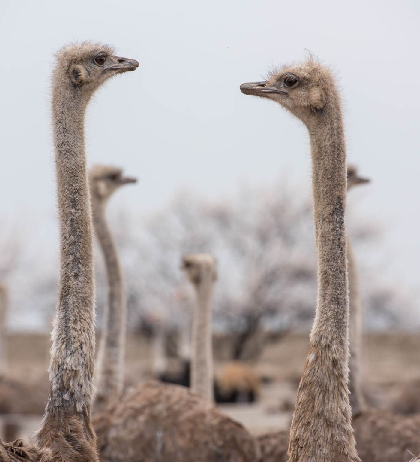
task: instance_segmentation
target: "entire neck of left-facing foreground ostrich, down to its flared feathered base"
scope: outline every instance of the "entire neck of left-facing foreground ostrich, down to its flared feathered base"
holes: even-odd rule
[[[331,95],[322,120],[308,129],[318,298],[288,455],[290,462],[359,461],[348,400],[347,171],[338,95]]]

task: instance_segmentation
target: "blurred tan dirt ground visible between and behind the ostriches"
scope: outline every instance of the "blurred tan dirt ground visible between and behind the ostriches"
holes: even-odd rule
[[[14,334],[8,338],[11,374],[24,381],[44,377],[47,381],[49,337],[42,334]],[[255,404],[222,405],[220,408],[242,422],[255,434],[287,429],[292,416],[294,397],[308,351],[308,336],[289,334],[278,344],[270,345],[254,366],[270,379],[264,383]],[[420,334],[369,334],[364,339],[364,378],[368,399],[376,406],[387,407],[402,383],[420,378]],[[139,337],[127,339],[126,381],[141,383],[152,378],[150,344]],[[223,365],[216,360],[216,371]],[[45,396],[45,400],[47,396]],[[29,438],[40,420],[39,415],[14,416],[20,426],[19,436]],[[0,416],[0,438],[5,438]]]

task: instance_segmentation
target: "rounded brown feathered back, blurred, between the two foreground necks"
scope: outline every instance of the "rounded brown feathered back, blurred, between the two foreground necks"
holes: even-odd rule
[[[102,462],[255,462],[255,439],[185,387],[147,383],[93,419]]]

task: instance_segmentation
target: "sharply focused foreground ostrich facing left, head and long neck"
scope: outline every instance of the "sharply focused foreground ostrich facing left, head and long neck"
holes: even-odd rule
[[[314,60],[240,89],[280,103],[306,125],[311,140],[318,300],[290,428],[289,461],[359,461],[347,384],[347,174],[338,90],[330,71]]]

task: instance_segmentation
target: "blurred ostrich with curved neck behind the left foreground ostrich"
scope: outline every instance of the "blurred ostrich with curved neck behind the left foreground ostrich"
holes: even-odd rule
[[[124,386],[127,307],[120,260],[105,209],[117,189],[136,181],[135,178],[123,176],[121,169],[107,165],[95,165],[89,171],[93,227],[102,250],[108,279],[108,305],[96,359],[96,411],[116,399]]]

